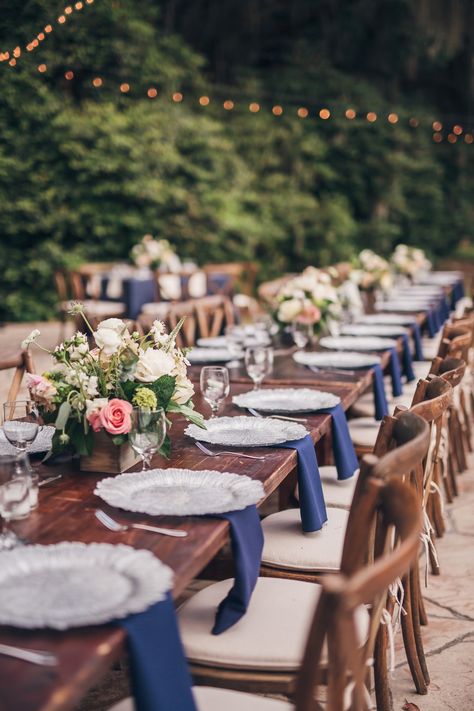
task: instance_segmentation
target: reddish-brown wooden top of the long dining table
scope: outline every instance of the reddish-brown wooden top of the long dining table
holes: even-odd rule
[[[388,358],[388,353],[382,354],[384,364]],[[196,378],[199,369],[193,367],[190,372]],[[314,374],[291,358],[281,356],[276,358],[273,375],[266,381],[266,386],[294,383],[324,388],[339,395],[344,409],[347,409],[370,386],[371,379],[370,369],[354,374]],[[232,381],[231,394],[249,389],[248,378],[242,371],[234,372]],[[199,397],[196,398],[196,405],[201,412],[208,412],[207,405]],[[220,414],[242,414],[242,410],[235,408],[228,398]],[[307,417],[306,426],[315,444],[330,442],[326,435],[330,433],[331,417],[325,414]],[[265,456],[264,461],[239,458],[238,455],[211,458],[203,455],[184,435],[184,426],[182,419],[175,420],[171,431],[172,456],[169,461],[155,458],[154,466],[244,473],[263,483],[265,497],[262,502],[288,477],[295,475],[297,455],[294,450],[253,449],[252,452]],[[72,462],[56,467],[40,463],[35,466],[41,477],[56,472],[63,476],[40,488],[39,508],[16,526],[20,535],[32,543],[50,544],[69,540],[127,543],[135,548],[146,548],[173,569],[173,594],[176,599],[228,542],[226,521],[197,516],[179,518],[129,514],[106,506],[94,495],[95,484],[103,478],[102,474],[82,473]],[[94,511],[98,507],[124,522],[147,521],[160,526],[185,528],[189,536],[184,539],[166,538],[137,530],[113,533],[95,519]],[[3,627],[0,628],[0,643],[50,650],[59,659],[57,667],[44,668],[0,656],[0,711],[68,711],[123,654],[125,634],[112,625],[83,627],[67,632],[22,631]]]

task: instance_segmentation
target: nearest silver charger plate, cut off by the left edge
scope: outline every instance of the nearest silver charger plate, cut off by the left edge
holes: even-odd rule
[[[163,600],[173,572],[150,551],[63,542],[0,553],[0,625],[99,625]]]

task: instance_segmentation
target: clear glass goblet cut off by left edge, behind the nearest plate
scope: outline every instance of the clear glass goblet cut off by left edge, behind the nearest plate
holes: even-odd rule
[[[30,512],[29,479],[17,474],[17,458],[0,457],[0,514],[3,519],[0,550],[9,550],[24,541],[10,528],[10,521],[26,518]]]

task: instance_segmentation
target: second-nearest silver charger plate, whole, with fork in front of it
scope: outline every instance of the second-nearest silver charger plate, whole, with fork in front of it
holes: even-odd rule
[[[198,516],[238,511],[264,495],[244,474],[213,470],[151,469],[102,479],[94,493],[111,506],[150,516]]]

